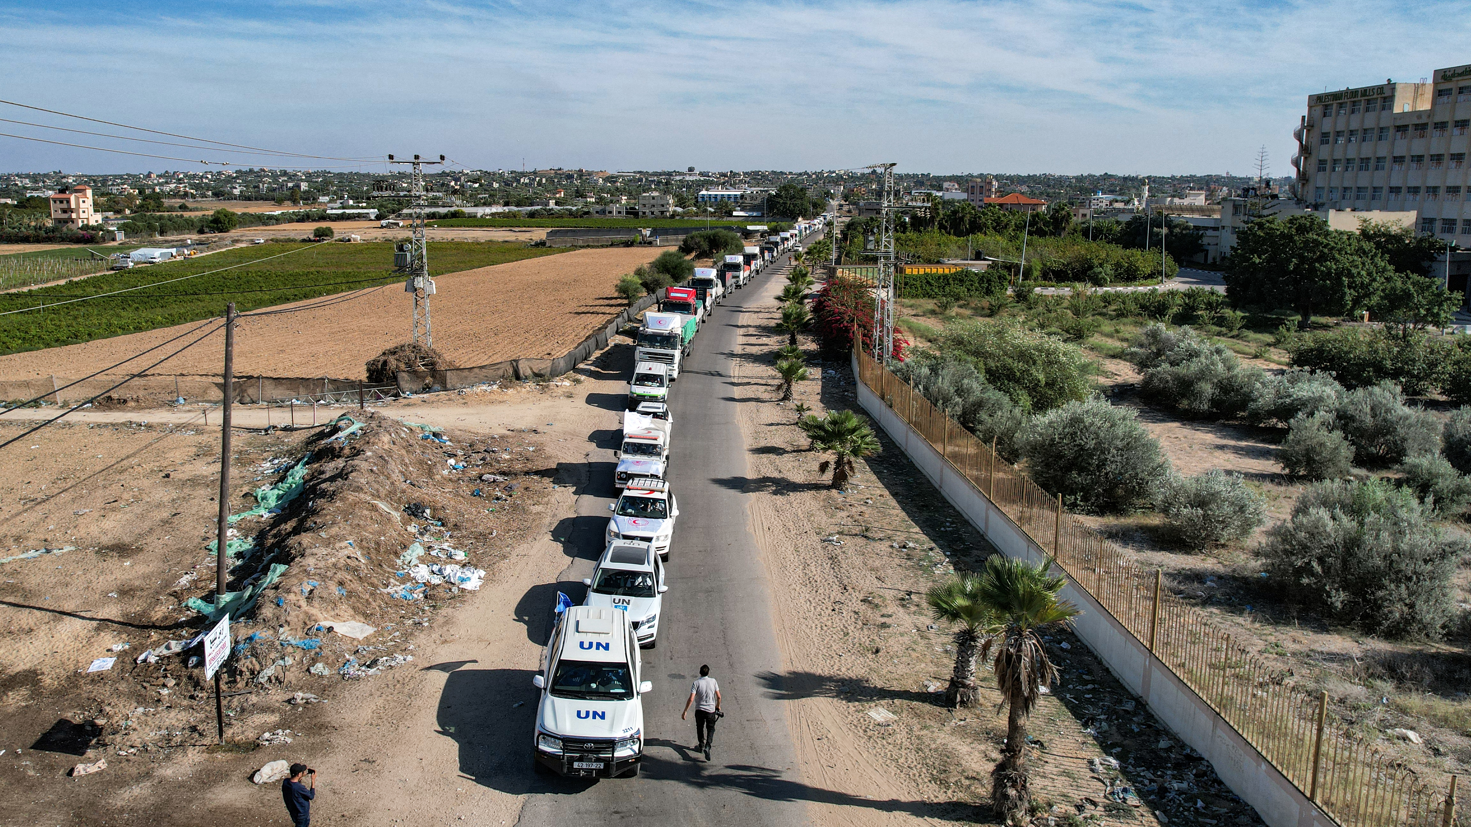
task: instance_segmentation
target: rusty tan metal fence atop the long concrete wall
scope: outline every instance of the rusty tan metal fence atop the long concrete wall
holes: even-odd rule
[[[1164,589],[1161,569],[1137,565],[1062,508],[1015,465],[936,409],[865,353],[859,380],[909,422],[1068,578],[1202,700],[1344,827],[1450,827],[1456,777],[1425,777],[1380,752],[1328,709],[1328,695],[1290,686],[1209,617]]]

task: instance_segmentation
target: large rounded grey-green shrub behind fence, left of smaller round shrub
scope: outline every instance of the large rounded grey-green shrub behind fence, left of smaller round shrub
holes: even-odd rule
[[[1019,439],[1027,472],[1087,508],[1121,511],[1139,503],[1169,472],[1169,461],[1137,416],[1102,396],[1034,416]]]

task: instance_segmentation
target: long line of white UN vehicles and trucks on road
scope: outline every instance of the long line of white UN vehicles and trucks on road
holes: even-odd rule
[[[665,291],[659,312],[646,312],[634,344],[628,409],[616,452],[618,499],[603,534],[603,553],[583,580],[587,596],[571,605],[559,594],[541,671],[531,678],[541,692],[533,765],[538,773],[612,778],[638,775],[644,748],[640,649],[658,645],[665,575],[680,503],[669,490],[668,465],[674,419],[669,383],[680,375],[702,315],[744,285],[762,266],[811,233],[799,224],[787,238],[768,238],[725,256],[716,268],[697,268],[681,287]]]

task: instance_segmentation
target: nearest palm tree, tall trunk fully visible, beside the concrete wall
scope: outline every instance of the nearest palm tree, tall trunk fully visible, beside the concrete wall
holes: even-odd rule
[[[1041,689],[1058,680],[1039,631],[1077,617],[1078,608],[1058,597],[1066,584],[1066,577],[1052,574],[1052,558],[1033,565],[994,555],[986,561],[977,589],[977,602],[991,611],[997,624],[994,636],[981,646],[981,658],[994,647],[991,670],[1002,703],[1009,708],[1006,748],[991,771],[991,809],[1000,818],[1021,815],[1031,801],[1024,764],[1027,717],[1037,706]]]

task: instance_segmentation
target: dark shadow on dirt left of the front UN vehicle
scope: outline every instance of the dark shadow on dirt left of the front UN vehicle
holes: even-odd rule
[[[550,615],[550,605],[546,609]],[[590,781],[546,778],[533,771],[530,736],[524,749],[507,746],[506,733],[535,730],[534,674],[533,670],[455,670],[440,693],[438,734],[455,739],[459,771],[477,784],[518,796],[583,792]]]

